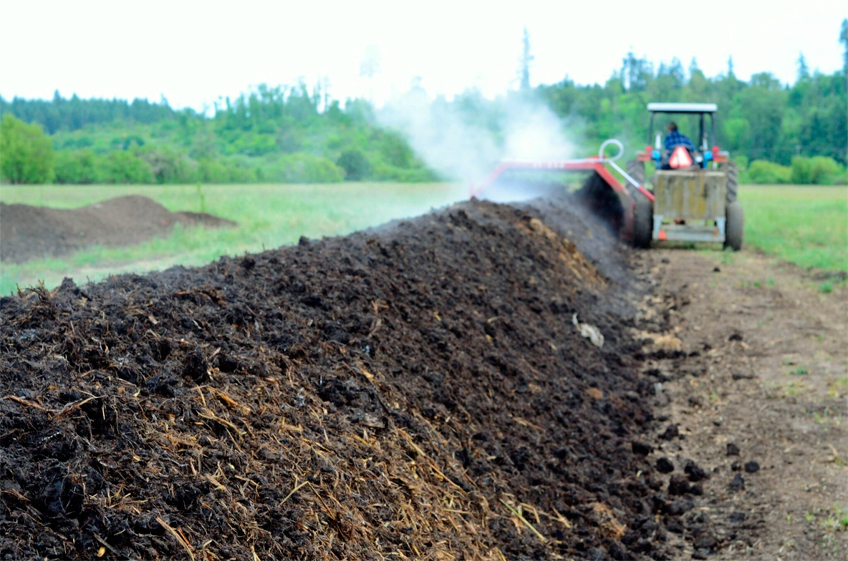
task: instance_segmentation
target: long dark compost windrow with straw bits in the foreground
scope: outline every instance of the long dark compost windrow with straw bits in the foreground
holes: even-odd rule
[[[3,298],[0,557],[669,558],[624,249],[579,212]]]

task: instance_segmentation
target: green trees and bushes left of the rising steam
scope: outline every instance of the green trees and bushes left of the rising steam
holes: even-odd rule
[[[14,183],[431,181],[362,100],[259,86],[208,117],[166,100],[0,98],[2,174]],[[47,133],[45,135],[44,133]],[[39,133],[45,141],[37,139]],[[27,148],[38,144],[38,150]],[[38,157],[37,164],[29,162]],[[38,171],[36,171],[38,170]]]

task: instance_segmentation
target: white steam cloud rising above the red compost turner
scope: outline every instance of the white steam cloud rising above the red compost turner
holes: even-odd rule
[[[404,134],[432,169],[466,184],[478,184],[501,161],[563,160],[576,152],[559,118],[523,94],[491,101],[472,92],[448,103],[415,88],[383,107],[377,119]]]

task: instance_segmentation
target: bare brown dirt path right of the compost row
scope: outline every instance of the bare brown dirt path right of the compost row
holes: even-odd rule
[[[645,367],[679,431],[654,460],[708,476],[678,505],[681,554],[848,559],[848,291],[750,253],[644,259],[645,318],[672,327]]]

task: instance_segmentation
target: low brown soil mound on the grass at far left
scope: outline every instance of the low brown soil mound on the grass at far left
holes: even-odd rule
[[[174,224],[220,228],[236,223],[210,214],[170,212],[128,195],[76,209],[0,203],[0,261],[60,256],[87,246],[132,245],[167,235]]]

